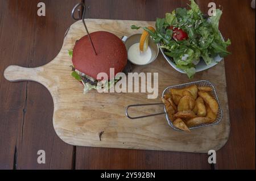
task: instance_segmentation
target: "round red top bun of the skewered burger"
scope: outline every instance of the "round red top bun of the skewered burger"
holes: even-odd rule
[[[72,62],[75,69],[97,79],[104,72],[110,78],[110,68],[115,74],[121,72],[127,64],[127,50],[122,40],[113,33],[97,31],[90,33],[97,55],[94,53],[88,35],[76,42]]]

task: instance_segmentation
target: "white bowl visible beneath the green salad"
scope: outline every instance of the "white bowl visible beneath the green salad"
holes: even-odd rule
[[[222,35],[221,35],[221,38],[224,41],[224,38],[223,38]],[[160,47],[160,44],[159,44],[159,48],[160,48],[160,51],[162,52],[164,58],[166,58],[167,62],[172,66],[172,68],[174,68],[175,70],[179,71],[180,73],[185,74],[185,71],[183,71],[183,70],[181,70],[181,69],[176,67],[175,62],[172,60],[171,57],[168,57],[166,54],[164,54],[164,49]],[[215,66],[219,62],[221,62],[223,60],[223,58],[218,55],[218,56],[214,57],[213,60],[214,60],[214,62],[212,64],[207,65],[207,64],[205,64],[203,58],[200,58],[199,64],[196,65],[196,72],[204,71],[204,70],[207,70],[209,68],[212,68],[213,66]]]

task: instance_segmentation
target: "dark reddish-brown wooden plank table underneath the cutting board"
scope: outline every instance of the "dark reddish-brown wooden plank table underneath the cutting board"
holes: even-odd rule
[[[231,132],[217,151],[217,164],[207,154],[171,151],[86,148],[65,144],[52,126],[53,101],[35,82],[10,83],[8,65],[36,67],[59,52],[72,7],[80,0],[0,0],[0,169],[255,169],[255,10],[250,0],[197,0],[221,5],[220,29],[232,40],[225,58]],[[37,16],[38,2],[46,16]],[[88,18],[155,20],[188,1],[86,0]],[[46,164],[37,162],[46,151]]]

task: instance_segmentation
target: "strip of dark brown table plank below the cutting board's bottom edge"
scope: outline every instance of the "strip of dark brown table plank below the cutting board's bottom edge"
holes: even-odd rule
[[[76,169],[210,169],[208,154],[78,146]]]

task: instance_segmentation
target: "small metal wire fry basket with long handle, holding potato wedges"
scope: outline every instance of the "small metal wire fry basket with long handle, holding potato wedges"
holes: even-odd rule
[[[212,87],[212,91],[210,92],[210,94],[217,100],[218,102],[218,113],[217,113],[217,118],[216,120],[213,122],[213,123],[210,123],[210,124],[201,124],[201,125],[197,125],[195,127],[191,127],[189,129],[196,129],[196,128],[202,128],[202,127],[209,127],[211,125],[216,125],[218,123],[220,123],[220,121],[222,120],[222,117],[223,117],[223,112],[222,112],[222,109],[221,109],[221,105],[220,105],[220,101],[218,100],[218,96],[217,96],[217,92],[216,92],[216,89],[215,87],[213,86],[212,83],[210,83],[209,81],[196,81],[196,82],[189,82],[189,83],[184,83],[184,84],[181,84],[181,85],[176,85],[176,86],[170,86],[170,87],[167,87],[164,91],[163,91],[163,94],[162,94],[162,98],[165,94],[167,94],[167,92],[169,92],[171,89],[183,89],[185,87],[189,87],[191,85],[197,85],[198,87],[202,87],[202,86],[208,86],[208,87]],[[155,114],[152,114],[152,115],[145,115],[145,116],[138,116],[138,117],[131,117],[128,113],[128,109],[130,107],[141,107],[141,106],[154,106],[154,105],[161,105],[163,106],[163,110],[164,112],[161,112],[161,113],[155,113]],[[166,116],[166,120],[168,121],[168,124],[170,125],[170,127],[172,127],[173,129],[175,129],[175,131],[181,131],[181,129],[179,128],[176,128],[173,124],[172,124],[172,121],[173,120],[170,120],[168,114],[167,114],[167,110],[166,110],[166,107],[164,106],[163,103],[154,103],[154,104],[134,104],[134,105],[130,105],[130,106],[127,106],[126,107],[126,110],[125,110],[125,114],[127,117],[129,117],[129,119],[142,119],[144,117],[151,117],[151,116],[156,116],[156,115],[162,115],[164,114]]]

